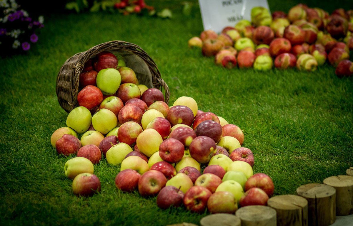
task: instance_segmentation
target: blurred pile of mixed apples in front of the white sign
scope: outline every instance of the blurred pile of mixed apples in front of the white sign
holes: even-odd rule
[[[214,56],[215,63],[226,68],[269,70],[275,66],[314,71],[328,61],[337,76],[351,76],[353,10],[337,8],[330,15],[321,8],[298,4],[288,14],[270,14],[264,7],[254,7],[251,21],[240,20],[220,34],[202,31],[188,45],[201,48],[204,56]]]

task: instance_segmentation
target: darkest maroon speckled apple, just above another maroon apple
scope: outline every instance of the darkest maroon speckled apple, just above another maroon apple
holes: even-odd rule
[[[222,133],[223,130],[221,124],[213,120],[202,121],[195,128],[195,134],[197,137],[207,136],[212,138],[216,143],[222,138]]]

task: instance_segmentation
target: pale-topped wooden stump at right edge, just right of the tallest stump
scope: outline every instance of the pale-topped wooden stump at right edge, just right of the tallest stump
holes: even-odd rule
[[[324,184],[336,189],[336,215],[353,214],[353,177],[347,175],[332,176],[326,178]]]

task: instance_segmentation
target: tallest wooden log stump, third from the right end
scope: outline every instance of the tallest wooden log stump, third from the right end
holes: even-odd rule
[[[308,201],[308,225],[328,226],[336,221],[336,190],[327,184],[305,184],[297,194]]]

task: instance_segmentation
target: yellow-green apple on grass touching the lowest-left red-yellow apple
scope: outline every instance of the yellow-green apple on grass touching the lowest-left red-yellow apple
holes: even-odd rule
[[[74,157],[69,160],[64,165],[65,175],[73,179],[77,175],[82,174],[84,172],[88,172],[93,174],[94,166],[93,163],[85,157]]]

